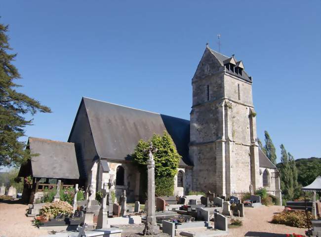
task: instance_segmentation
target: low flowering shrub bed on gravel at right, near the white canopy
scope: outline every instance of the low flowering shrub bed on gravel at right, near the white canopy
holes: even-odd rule
[[[307,221],[307,216],[304,211],[282,211],[273,216],[272,223],[298,228],[308,228],[308,226],[311,226],[311,217],[311,212],[308,212]]]

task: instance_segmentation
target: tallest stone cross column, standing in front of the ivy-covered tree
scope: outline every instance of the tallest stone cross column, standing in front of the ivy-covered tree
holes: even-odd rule
[[[153,143],[150,143],[149,147],[149,159],[147,160],[147,172],[148,172],[148,186],[147,186],[147,198],[148,198],[148,213],[146,217],[144,235],[157,235],[159,228],[156,223],[155,216],[155,161],[153,152],[157,152],[157,149],[153,148]]]

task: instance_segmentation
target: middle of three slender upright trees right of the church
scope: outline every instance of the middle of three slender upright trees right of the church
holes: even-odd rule
[[[281,169],[280,169],[281,190],[286,200],[292,200],[294,189],[293,189],[293,173],[292,173],[291,163],[289,162],[288,154],[283,144],[281,144],[280,148],[281,148]]]

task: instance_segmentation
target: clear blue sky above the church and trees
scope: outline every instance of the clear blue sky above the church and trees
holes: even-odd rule
[[[321,157],[321,1],[10,0],[19,88],[49,106],[28,136],[67,141],[82,96],[189,119],[205,43],[253,77],[258,137]],[[26,140],[27,138],[25,138]]]

